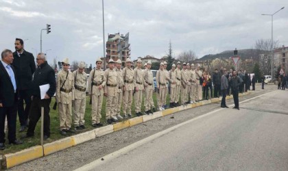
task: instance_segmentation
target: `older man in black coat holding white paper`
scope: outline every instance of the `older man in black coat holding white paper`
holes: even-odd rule
[[[44,107],[44,140],[50,137],[50,103],[56,92],[55,72],[47,64],[44,53],[38,53],[37,68],[32,80],[32,103],[29,112],[29,126],[24,137],[33,137],[36,124],[41,117],[41,107]],[[42,94],[42,96],[41,96]]]

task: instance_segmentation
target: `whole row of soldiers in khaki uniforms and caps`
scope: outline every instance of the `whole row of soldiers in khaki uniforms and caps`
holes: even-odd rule
[[[115,64],[116,63],[116,64]],[[157,103],[155,107],[152,94],[154,92],[154,78],[150,70],[152,62],[145,64],[142,70],[142,61],[137,61],[137,66],[132,69],[132,61],[128,58],[125,61],[125,68],[121,69],[121,60],[109,60],[108,68],[102,70],[102,61],[96,61],[96,67],[91,70],[88,79],[88,94],[91,95],[91,118],[93,127],[101,127],[101,107],[104,96],[106,96],[106,121],[112,124],[123,118],[132,117],[132,98],[134,94],[136,116],[153,114],[157,110],[167,108],[166,98],[170,88],[170,107],[180,105],[180,93],[182,105],[195,103],[202,100],[202,87],[200,78],[202,72],[200,66],[197,69],[191,64],[180,62],[173,64],[170,71],[167,71],[167,63],[160,63],[160,69],[156,74]],[[86,107],[86,73],[84,73],[83,62],[80,62],[78,69],[73,73],[69,71],[69,60],[62,61],[63,69],[57,76],[56,100],[60,114],[60,130],[66,135],[71,130],[71,111],[73,111],[75,129],[85,129],[84,114]],[[115,67],[116,66],[116,67]],[[170,83],[170,86],[167,86]],[[141,113],[141,104],[144,94],[145,111]],[[189,99],[190,97],[190,99]],[[121,116],[121,103],[123,99],[123,116]],[[73,104],[73,106],[72,106]]]

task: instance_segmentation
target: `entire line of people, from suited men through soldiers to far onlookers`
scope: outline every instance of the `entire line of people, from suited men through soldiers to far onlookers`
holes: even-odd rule
[[[167,70],[167,62],[161,62],[156,73],[157,106],[154,104],[154,77],[152,62],[142,68],[141,59],[137,60],[132,69],[132,61],[128,58],[125,67],[121,60],[112,59],[108,68],[102,69],[101,59],[96,60],[96,67],[89,73],[84,72],[85,63],[80,62],[77,70],[69,70],[69,59],[62,60],[62,70],[55,78],[54,70],[47,64],[46,55],[38,53],[36,66],[34,56],[24,50],[23,40],[16,38],[15,49],[5,49],[1,53],[0,63],[0,149],[5,149],[5,117],[8,121],[9,144],[22,144],[16,140],[16,114],[21,124],[20,132],[27,129],[22,138],[33,137],[36,124],[44,107],[44,139],[50,137],[50,103],[56,94],[58,114],[60,119],[60,134],[75,133],[86,129],[84,115],[86,109],[86,80],[88,79],[88,94],[91,96],[91,120],[93,127],[101,127],[101,110],[103,98],[106,96],[106,122],[113,124],[123,118],[132,117],[132,99],[134,98],[136,116],[153,114],[168,107],[178,107],[189,103],[197,103],[204,99],[223,96],[221,107],[227,107],[226,94],[233,94],[235,107],[239,109],[239,92],[255,90],[255,79],[250,75],[237,73],[236,70],[226,68],[215,69],[213,75],[201,68],[200,64],[177,62]],[[40,94],[40,87],[49,84],[44,96]],[[213,92],[214,91],[214,92]],[[169,104],[166,99],[169,94]],[[144,98],[143,98],[144,97]],[[144,99],[144,112],[141,104]],[[123,101],[123,102],[122,102]],[[25,102],[25,105],[24,105]],[[121,105],[123,114],[121,114]],[[73,126],[72,126],[73,125]],[[74,127],[74,129],[72,129]]]

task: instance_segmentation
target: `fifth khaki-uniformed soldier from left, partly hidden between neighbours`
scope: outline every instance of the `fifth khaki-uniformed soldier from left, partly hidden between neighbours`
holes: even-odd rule
[[[123,71],[121,70],[121,60],[117,60],[116,62],[116,72],[117,72],[117,103],[115,104],[115,114],[118,120],[123,119],[123,117],[120,115],[121,111],[121,103],[123,98],[123,86],[124,86],[124,80],[123,80]]]

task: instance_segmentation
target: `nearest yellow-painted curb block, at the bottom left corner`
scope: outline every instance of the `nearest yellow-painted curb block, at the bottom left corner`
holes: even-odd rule
[[[43,146],[33,146],[17,153],[5,155],[7,168],[43,157]]]

